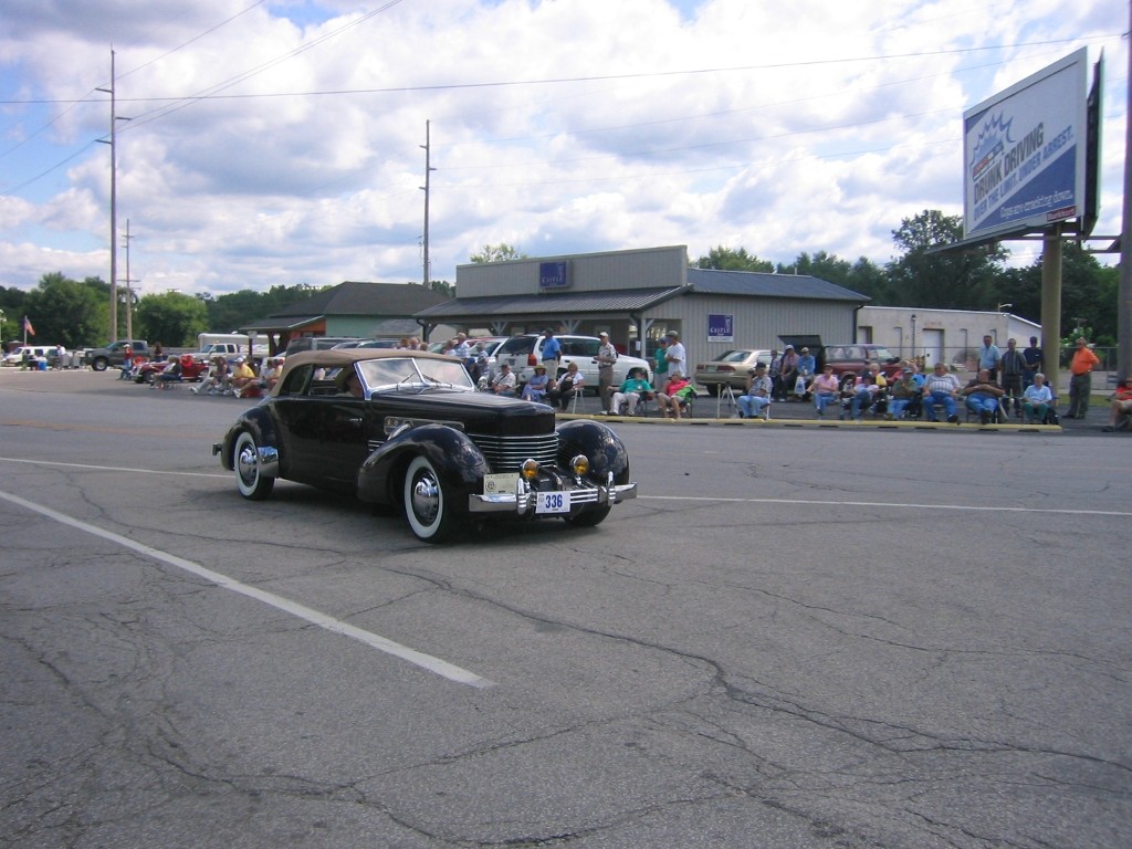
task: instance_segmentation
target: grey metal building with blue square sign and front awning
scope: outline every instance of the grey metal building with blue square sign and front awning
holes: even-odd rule
[[[606,331],[638,357],[677,331],[689,365],[736,348],[781,348],[780,335],[852,342],[855,311],[868,301],[809,275],[689,268],[683,245],[461,265],[456,294],[417,320],[469,335]]]

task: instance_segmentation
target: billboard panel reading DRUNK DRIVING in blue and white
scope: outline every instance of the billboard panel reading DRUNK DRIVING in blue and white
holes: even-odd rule
[[[1082,48],[963,112],[963,238],[1039,230],[1086,213]]]

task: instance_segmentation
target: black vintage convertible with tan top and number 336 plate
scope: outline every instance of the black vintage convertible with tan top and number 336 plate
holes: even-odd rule
[[[286,359],[275,388],[213,446],[245,498],[276,478],[398,505],[420,539],[499,517],[599,524],[636,497],[617,435],[544,404],[477,392],[458,360],[345,349]]]

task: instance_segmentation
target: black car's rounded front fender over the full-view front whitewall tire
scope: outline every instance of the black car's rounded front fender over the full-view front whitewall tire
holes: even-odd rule
[[[466,434],[447,424],[421,424],[394,431],[366,458],[358,470],[358,497],[371,504],[400,503],[402,477],[418,455],[432,463],[460,512],[466,511],[468,496],[479,492],[480,481],[491,473]]]

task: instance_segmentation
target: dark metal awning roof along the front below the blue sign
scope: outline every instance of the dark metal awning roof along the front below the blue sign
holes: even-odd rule
[[[483,298],[453,298],[417,314],[418,318],[461,318],[482,316],[501,318],[529,316],[554,310],[563,312],[634,312],[684,294],[687,286],[617,289],[602,292],[561,292],[555,294],[501,294]]]

